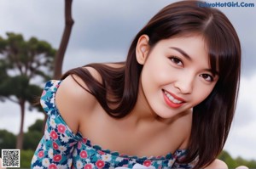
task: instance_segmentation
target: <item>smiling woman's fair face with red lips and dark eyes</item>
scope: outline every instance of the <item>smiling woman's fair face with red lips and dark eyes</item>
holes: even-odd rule
[[[144,38],[144,41],[143,41]],[[143,65],[140,97],[162,118],[171,118],[200,104],[218,81],[211,70],[206,43],[201,36],[161,40],[154,48],[141,45],[137,60]],[[139,46],[141,45],[141,46]],[[146,48],[146,49],[145,49]]]

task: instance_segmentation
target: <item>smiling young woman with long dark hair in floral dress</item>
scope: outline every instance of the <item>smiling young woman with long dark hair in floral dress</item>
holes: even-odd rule
[[[216,8],[172,3],[138,32],[124,63],[46,83],[40,168],[225,168],[241,47]]]

